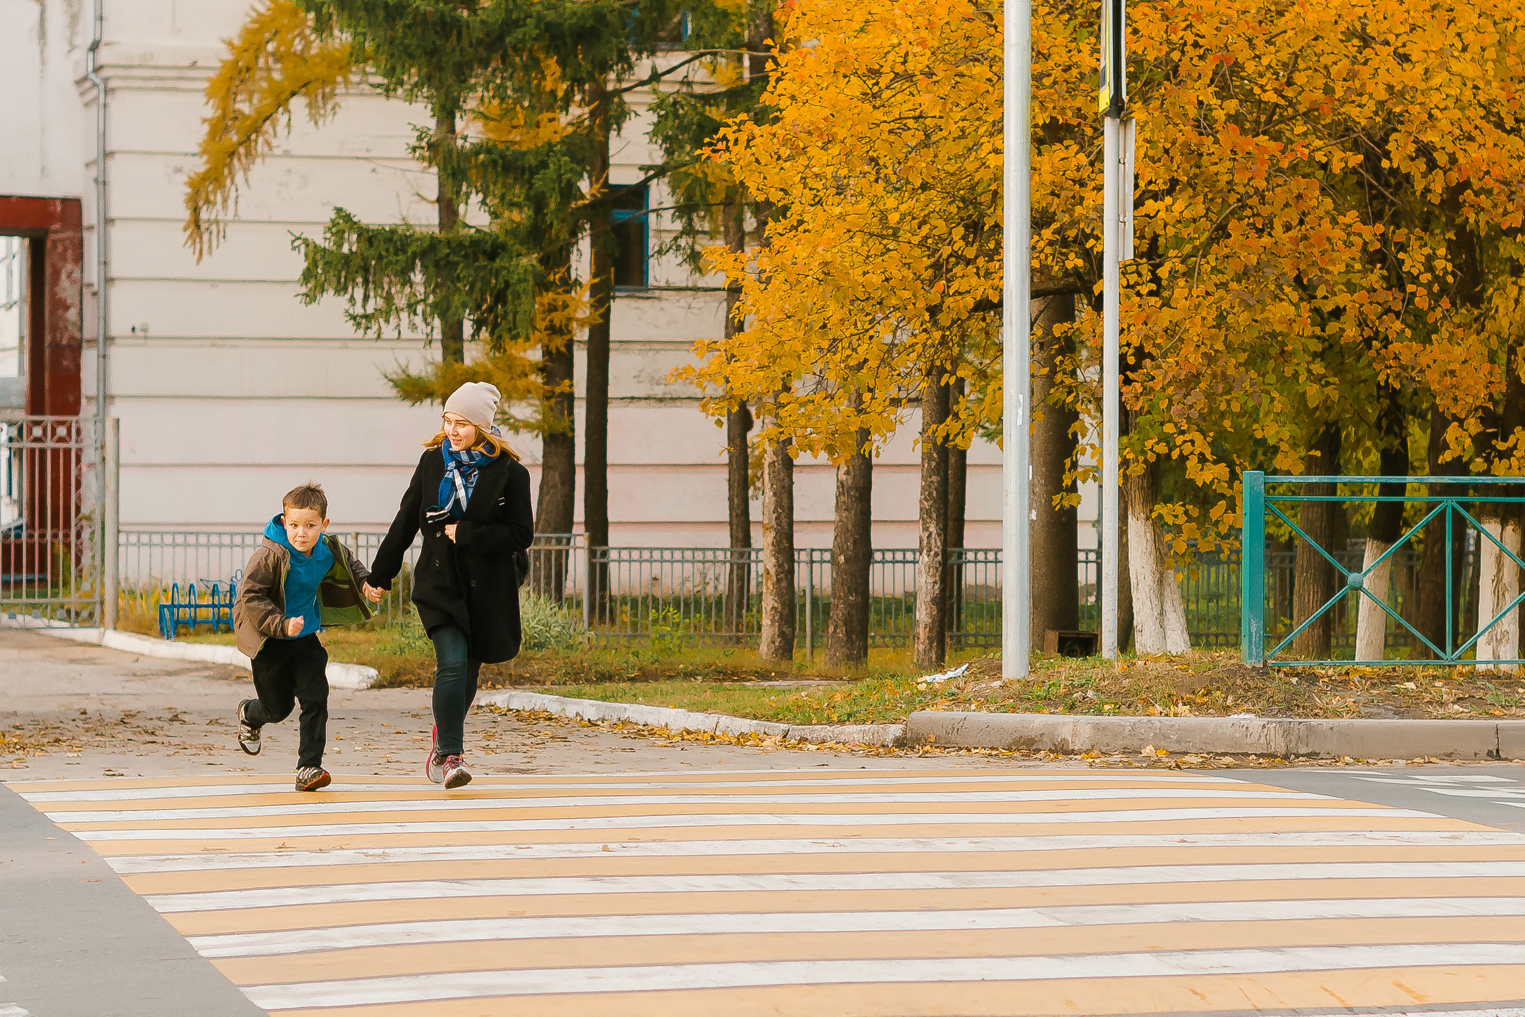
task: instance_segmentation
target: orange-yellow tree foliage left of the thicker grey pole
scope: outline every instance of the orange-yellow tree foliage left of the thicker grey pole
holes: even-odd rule
[[[711,252],[749,326],[698,343],[686,377],[759,406],[761,441],[837,459],[859,430],[895,432],[926,364],[952,372],[968,351],[958,371],[973,374],[994,355],[999,120],[964,114],[999,91],[999,46],[988,12],[959,3],[802,3],[787,32],[810,46],[779,49],[778,116],[715,148],[776,209],[761,249]],[[979,406],[949,430],[988,425]]]

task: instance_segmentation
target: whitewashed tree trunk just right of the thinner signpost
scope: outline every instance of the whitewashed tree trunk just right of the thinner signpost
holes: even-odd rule
[[[1165,531],[1154,521],[1159,502],[1159,462],[1144,473],[1122,476],[1128,514],[1128,579],[1133,584],[1133,645],[1138,653],[1186,653],[1186,605],[1170,564]]]

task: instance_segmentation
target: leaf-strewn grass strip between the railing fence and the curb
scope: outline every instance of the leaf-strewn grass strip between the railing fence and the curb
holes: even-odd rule
[[[197,633],[192,643],[230,645],[230,633]],[[416,625],[332,628],[323,643],[334,660],[372,666],[377,688],[429,688],[433,643]],[[959,679],[918,682],[927,668],[906,650],[875,650],[865,666],[828,669],[796,654],[770,662],[741,646],[621,646],[593,643],[526,650],[482,668],[480,688],[520,688],[572,698],[673,706],[787,724],[901,723],[915,711],[1078,714],[1101,717],[1304,718],[1525,718],[1525,680],[1473,668],[1257,669],[1232,651],[1182,657],[1100,659],[1039,656],[1020,682],[1000,680],[1000,662],[967,653]],[[759,682],[819,680],[781,688]]]

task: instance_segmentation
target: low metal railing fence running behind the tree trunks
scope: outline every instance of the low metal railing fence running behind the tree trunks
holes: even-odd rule
[[[361,561],[380,547],[383,534],[334,531]],[[139,531],[120,534],[120,611],[127,627],[156,631],[160,601],[174,584],[186,589],[226,584],[259,546],[259,532]],[[409,607],[415,541],[392,595],[377,608],[374,624],[401,619]],[[1080,627],[1096,625],[1100,553],[1077,557]],[[915,624],[915,547],[881,547],[869,570],[869,645],[906,646]],[[584,596],[589,570],[596,596]],[[1000,646],[1000,549],[962,547],[949,552],[949,648]],[[1287,564],[1290,579],[1290,563]],[[1238,628],[1238,560],[1202,558],[1183,567],[1182,592],[1194,645],[1235,645]],[[529,549],[525,592],[557,601],[583,618],[595,637],[608,643],[682,646],[756,645],[761,631],[762,550],[758,547],[587,547],[583,534],[537,534]],[[795,552],[796,645],[807,654],[825,646],[831,613],[831,552]]]

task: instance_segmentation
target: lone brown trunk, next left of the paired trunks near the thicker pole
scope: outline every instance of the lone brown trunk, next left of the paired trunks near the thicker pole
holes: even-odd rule
[[[857,396],[854,396],[857,398]],[[868,428],[837,467],[836,521],[831,528],[831,614],[827,618],[827,666],[868,660],[869,570],[874,564],[874,456]]]

